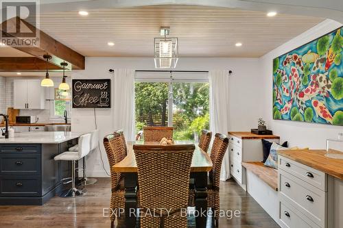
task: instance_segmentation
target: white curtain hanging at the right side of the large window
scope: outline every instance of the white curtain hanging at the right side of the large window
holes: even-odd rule
[[[228,71],[209,71],[211,131],[228,134]],[[226,151],[222,162],[220,179],[230,178],[229,154]]]

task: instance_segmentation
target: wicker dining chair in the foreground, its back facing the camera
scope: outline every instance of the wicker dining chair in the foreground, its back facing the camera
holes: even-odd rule
[[[133,149],[143,212],[141,227],[187,227],[188,184],[195,146],[134,145]],[[167,214],[161,208],[171,211]],[[144,214],[148,211],[157,213]]]

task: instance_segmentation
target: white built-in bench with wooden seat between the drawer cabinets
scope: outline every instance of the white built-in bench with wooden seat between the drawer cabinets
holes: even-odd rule
[[[262,162],[241,162],[246,169],[246,191],[279,224],[278,170]]]

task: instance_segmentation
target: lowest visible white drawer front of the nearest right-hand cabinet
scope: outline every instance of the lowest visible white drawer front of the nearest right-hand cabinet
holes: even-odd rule
[[[294,207],[289,207],[282,201],[279,202],[279,208],[279,219],[283,228],[319,228],[318,225],[311,223]]]

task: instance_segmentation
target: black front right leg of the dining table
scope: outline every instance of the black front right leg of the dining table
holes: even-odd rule
[[[207,215],[207,172],[196,172],[192,175],[195,177],[196,187],[196,227],[206,227]]]

